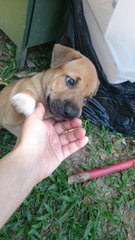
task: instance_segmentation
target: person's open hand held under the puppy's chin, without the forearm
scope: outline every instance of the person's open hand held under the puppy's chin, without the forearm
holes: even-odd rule
[[[44,113],[45,109],[39,103],[25,120],[16,147],[26,159],[35,184],[49,176],[65,158],[88,141],[80,119],[54,122],[43,120]]]

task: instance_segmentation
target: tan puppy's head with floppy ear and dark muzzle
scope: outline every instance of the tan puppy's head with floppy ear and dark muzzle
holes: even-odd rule
[[[49,71],[46,101],[52,117],[56,120],[79,117],[99,86],[93,63],[80,52],[55,44]]]

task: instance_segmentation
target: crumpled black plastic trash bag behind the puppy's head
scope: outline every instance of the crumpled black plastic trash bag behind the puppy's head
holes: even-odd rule
[[[109,84],[99,63],[83,14],[81,0],[69,0],[57,42],[79,50],[95,65],[100,80],[97,95],[89,99],[83,115],[96,125],[135,135],[135,83]]]

